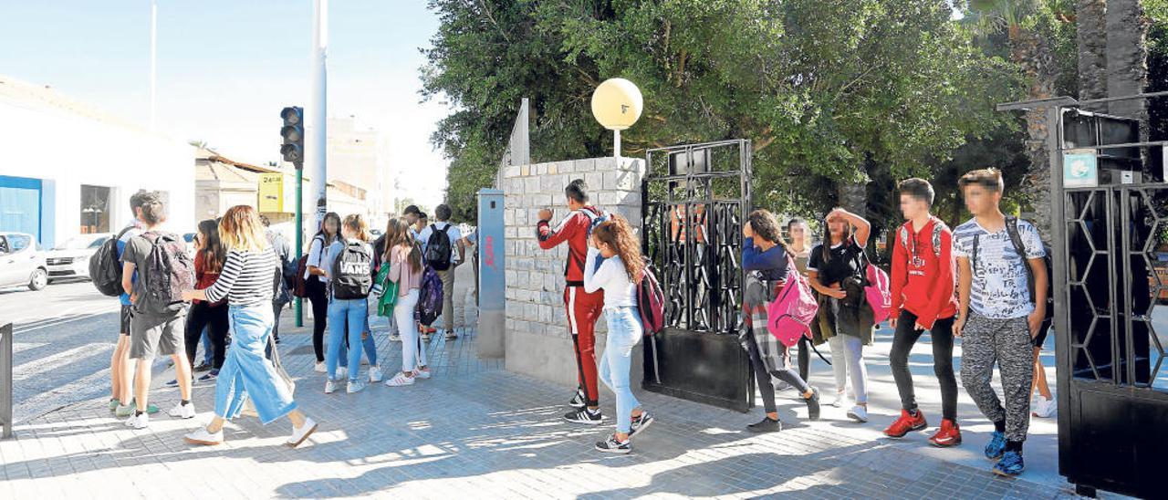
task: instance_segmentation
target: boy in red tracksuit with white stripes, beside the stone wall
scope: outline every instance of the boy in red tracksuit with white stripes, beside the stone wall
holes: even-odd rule
[[[588,204],[588,185],[583,179],[571,181],[564,188],[568,208],[571,210],[558,225],[551,228],[551,210],[540,210],[540,222],[536,231],[540,248],[551,250],[568,242],[568,263],[564,269],[566,286],[564,287],[564,307],[568,310],[568,331],[572,334],[576,348],[576,377],[579,388],[568,403],[573,408],[564,415],[569,422],[582,424],[599,424],[600,408],[597,391],[596,371],[596,321],[604,308],[604,291],[588,293],[584,291],[584,262],[588,257],[588,235],[592,220],[600,216],[600,210]]]

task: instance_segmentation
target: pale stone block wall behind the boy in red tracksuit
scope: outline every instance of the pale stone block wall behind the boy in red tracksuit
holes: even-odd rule
[[[576,386],[576,355],[563,300],[568,245],[540,249],[535,232],[540,209],[552,209],[552,224],[563,220],[568,215],[564,187],[584,179],[592,204],[639,228],[644,172],[645,160],[632,158],[621,158],[619,164],[613,158],[593,158],[506,168],[501,188],[506,193],[508,370]],[[604,350],[604,318],[597,321],[597,355]],[[631,375],[634,390],[640,388],[641,373],[638,346]],[[603,384],[602,391],[606,393]]]

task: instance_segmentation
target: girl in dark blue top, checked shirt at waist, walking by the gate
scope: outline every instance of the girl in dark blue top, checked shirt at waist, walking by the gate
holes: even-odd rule
[[[807,404],[807,418],[819,419],[819,389],[807,384],[807,381],[791,368],[791,354],[787,346],[779,342],[767,329],[766,306],[774,300],[774,294],[787,276],[787,256],[791,249],[783,241],[779,223],[766,210],[755,210],[742,225],[742,269],[746,271],[746,285],[743,299],[743,315],[748,328],[738,336],[739,342],[750,355],[750,364],[755,370],[755,382],[763,394],[763,409],[766,416],[762,422],[746,426],[751,432],[777,432],[783,430],[779,422],[778,407],[774,404],[774,386],[771,375],[791,384],[799,391]]]

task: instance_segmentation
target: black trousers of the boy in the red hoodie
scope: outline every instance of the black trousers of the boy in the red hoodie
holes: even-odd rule
[[[896,334],[892,336],[892,352],[889,364],[896,390],[901,393],[901,405],[905,410],[917,409],[917,395],[912,390],[912,373],[909,371],[909,353],[912,345],[924,333],[917,329],[917,315],[901,311],[896,320]],[[929,331],[933,340],[933,373],[941,386],[941,417],[957,421],[957,377],[953,376],[953,318],[938,319],[933,329]]]

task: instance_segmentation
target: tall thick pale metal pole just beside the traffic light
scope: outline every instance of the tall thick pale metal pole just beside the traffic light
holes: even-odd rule
[[[305,109],[308,124],[305,137],[305,159],[310,167],[310,193],[317,201],[315,221],[319,227],[328,207],[327,121],[328,121],[328,0],[313,0],[312,27],[312,98]]]

